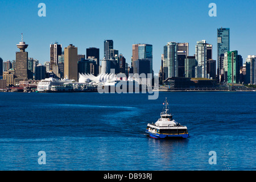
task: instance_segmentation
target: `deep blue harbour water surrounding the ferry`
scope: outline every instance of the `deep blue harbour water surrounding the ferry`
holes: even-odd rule
[[[188,139],[144,132],[165,97]],[[0,170],[255,170],[255,102],[254,92],[0,93]]]

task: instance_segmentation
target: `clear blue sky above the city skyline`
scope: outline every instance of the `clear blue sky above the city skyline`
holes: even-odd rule
[[[39,17],[39,3],[46,4],[46,17]],[[216,3],[217,16],[210,17],[208,7]],[[230,51],[238,50],[243,61],[256,55],[256,1],[156,1],[156,0],[83,0],[83,1],[0,1],[0,57],[15,60],[16,47],[28,44],[28,57],[39,63],[49,61],[49,45],[73,44],[79,54],[86,48],[100,48],[112,39],[130,64],[132,44],[153,45],[153,69],[159,72],[163,46],[167,42],[188,42],[189,55],[195,53],[199,40],[213,44],[217,59],[217,28],[230,28]]]

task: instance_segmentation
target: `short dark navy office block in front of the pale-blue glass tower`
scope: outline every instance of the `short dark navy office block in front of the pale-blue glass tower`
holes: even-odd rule
[[[138,74],[137,76],[143,76],[141,74],[144,73],[147,77],[148,74],[151,73],[150,64],[150,59],[133,60],[133,74]]]

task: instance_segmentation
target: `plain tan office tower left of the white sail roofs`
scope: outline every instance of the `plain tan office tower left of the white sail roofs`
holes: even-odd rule
[[[64,48],[64,77],[78,81],[77,72],[77,47],[69,44]]]

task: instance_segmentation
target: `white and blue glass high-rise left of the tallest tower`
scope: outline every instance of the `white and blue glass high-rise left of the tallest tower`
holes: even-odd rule
[[[207,78],[207,43],[205,40],[196,43],[196,60],[195,77]]]

